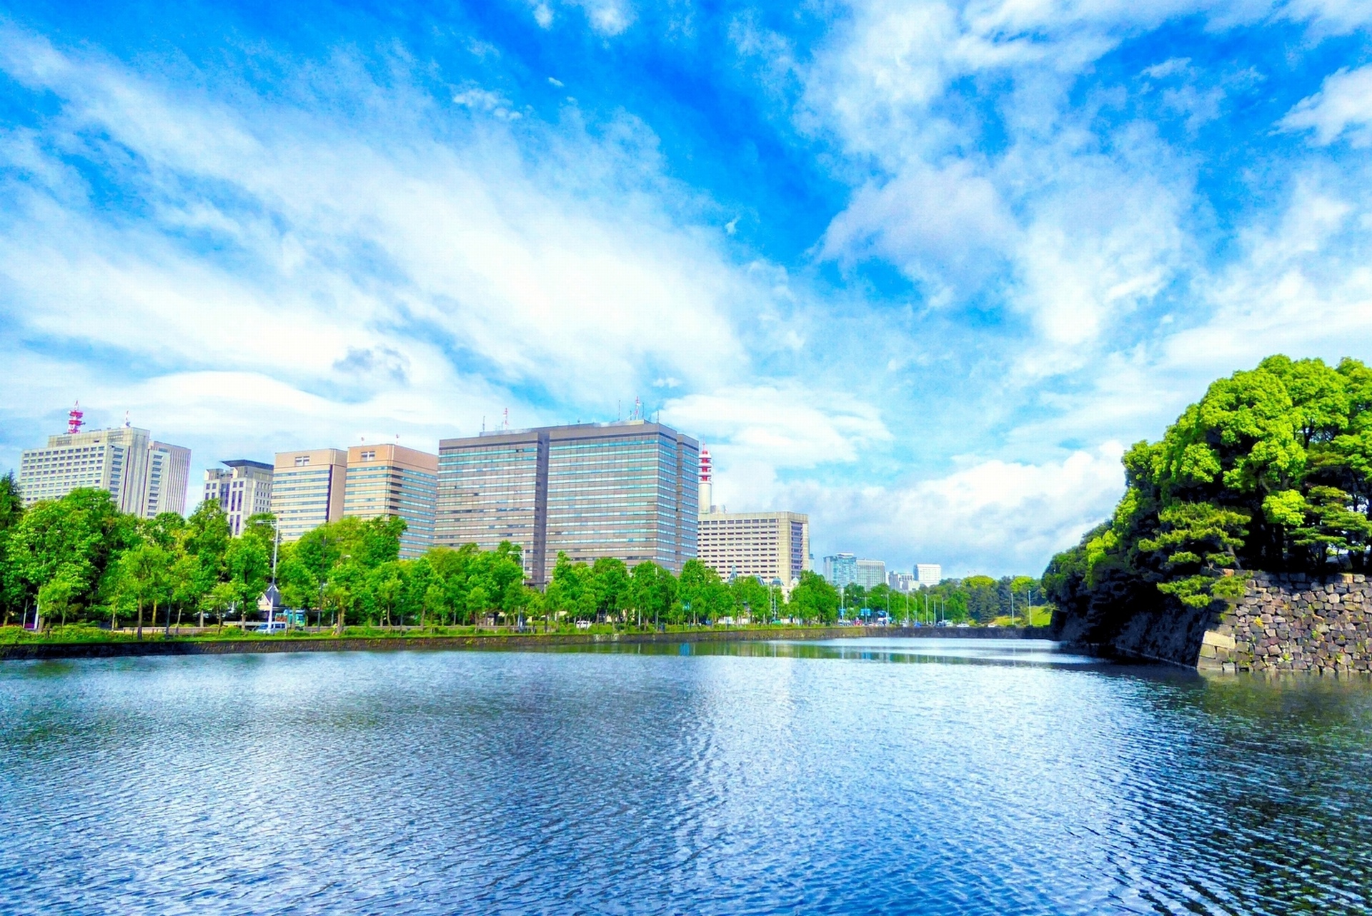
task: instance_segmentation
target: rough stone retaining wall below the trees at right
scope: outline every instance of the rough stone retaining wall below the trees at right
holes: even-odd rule
[[[1372,671],[1372,583],[1254,573],[1200,640],[1199,668],[1218,671]]]

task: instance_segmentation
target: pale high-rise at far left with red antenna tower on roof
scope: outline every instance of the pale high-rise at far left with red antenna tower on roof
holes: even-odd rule
[[[19,457],[25,505],[92,488],[108,492],[119,511],[144,518],[185,511],[189,448],[152,442],[147,429],[129,425],[82,432],[82,415],[80,407],[71,410],[66,433]]]

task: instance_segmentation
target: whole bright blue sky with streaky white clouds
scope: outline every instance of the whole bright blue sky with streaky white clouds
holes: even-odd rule
[[[816,558],[1037,572],[1270,352],[1372,359],[1365,0],[0,8],[0,468],[613,420]],[[192,496],[193,502],[193,496]]]

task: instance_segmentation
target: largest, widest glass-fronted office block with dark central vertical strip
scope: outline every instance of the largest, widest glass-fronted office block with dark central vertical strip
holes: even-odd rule
[[[700,446],[643,420],[497,429],[439,443],[435,542],[520,544],[543,586],[557,554],[674,573],[696,555]]]

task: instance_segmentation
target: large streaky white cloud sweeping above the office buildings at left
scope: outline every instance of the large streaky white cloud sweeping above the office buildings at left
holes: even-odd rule
[[[556,422],[654,378],[735,384],[771,346],[757,317],[792,309],[774,272],[722,251],[712,215],[691,222],[698,195],[659,176],[631,118],[521,128],[543,132],[530,165],[479,86],[457,93],[472,130],[438,140],[427,96],[347,62],[317,78],[370,97],[384,129],[241,86],[228,107],[16,32],[3,44],[0,67],[60,115],[41,143],[0,141],[16,330],[0,350],[14,365],[37,339],[97,366],[47,359],[60,391],[14,384],[22,411],[99,391],[218,457],[366,431],[432,447],[504,406]],[[144,218],[93,206],[66,152]]]

